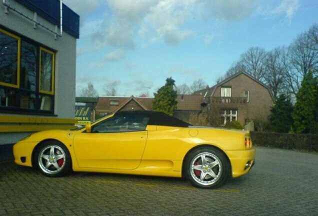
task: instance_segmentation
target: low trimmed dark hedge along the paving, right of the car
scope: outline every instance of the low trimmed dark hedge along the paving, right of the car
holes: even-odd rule
[[[318,152],[318,135],[251,131],[253,144],[258,146]]]

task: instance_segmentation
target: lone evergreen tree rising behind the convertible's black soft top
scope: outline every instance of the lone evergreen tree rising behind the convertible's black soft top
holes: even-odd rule
[[[176,90],[173,89],[174,80],[166,78],[165,84],[161,86],[156,93],[153,93],[152,109],[162,111],[168,115],[173,115],[176,108]]]

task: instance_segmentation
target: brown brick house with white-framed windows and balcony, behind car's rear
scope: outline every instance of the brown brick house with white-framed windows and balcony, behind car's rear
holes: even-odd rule
[[[193,93],[202,95],[201,108],[213,125],[246,119],[267,121],[274,104],[271,90],[245,72],[233,74],[214,86]]]

